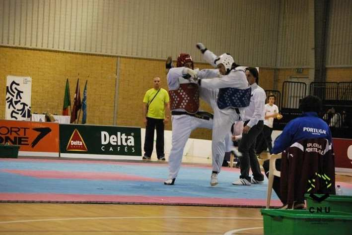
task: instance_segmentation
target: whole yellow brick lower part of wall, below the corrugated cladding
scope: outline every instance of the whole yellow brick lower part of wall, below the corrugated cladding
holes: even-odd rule
[[[111,125],[114,116],[115,74],[117,58],[78,53],[28,50],[0,47],[0,93],[6,92],[6,76],[30,76],[32,78],[32,113],[61,114],[66,79],[69,78],[71,102],[79,73],[81,97],[87,83],[87,123]],[[196,63],[199,68],[211,68]],[[165,61],[153,59],[120,58],[117,124],[141,126],[142,100],[145,91],[152,88],[152,79],[161,78],[161,87],[167,90]],[[267,74],[267,75],[266,75]],[[88,76],[89,75],[89,76]],[[270,89],[272,75],[269,69],[261,69],[261,82]],[[265,82],[265,83],[264,83]],[[5,115],[5,96],[0,98],[0,118]],[[204,102],[201,107],[211,112]],[[80,116],[80,118],[82,115]],[[171,124],[166,125],[171,130]],[[192,138],[211,138],[211,131],[199,129]]]

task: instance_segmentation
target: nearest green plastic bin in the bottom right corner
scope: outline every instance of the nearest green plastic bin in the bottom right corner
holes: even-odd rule
[[[351,235],[352,214],[262,209],[264,235]]]

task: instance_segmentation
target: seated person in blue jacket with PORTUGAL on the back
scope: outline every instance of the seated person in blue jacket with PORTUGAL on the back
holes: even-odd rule
[[[303,139],[325,138],[331,143],[331,131],[328,124],[320,117],[318,113],[322,110],[322,101],[317,96],[306,96],[302,99],[299,109],[303,112],[301,117],[289,121],[283,128],[275,142],[272,154],[281,153],[293,143]],[[263,168],[265,175],[269,176],[269,160],[264,161]],[[280,171],[281,159],[276,161],[276,169]],[[280,193],[280,177],[274,176],[273,189],[282,201]],[[302,209],[304,202],[298,202],[294,209]]]

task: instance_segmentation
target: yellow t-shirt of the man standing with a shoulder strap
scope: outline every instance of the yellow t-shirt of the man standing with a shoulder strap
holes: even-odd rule
[[[143,103],[149,103],[155,96],[158,90],[151,88],[145,92]],[[160,88],[159,93],[155,96],[154,100],[149,104],[148,113],[146,117],[152,117],[156,119],[164,119],[165,117],[165,103],[170,102],[169,93]]]

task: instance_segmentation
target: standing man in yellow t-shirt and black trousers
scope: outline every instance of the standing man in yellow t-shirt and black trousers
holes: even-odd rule
[[[156,155],[165,161],[164,124],[170,118],[170,98],[168,92],[160,88],[160,78],[154,77],[154,87],[145,92],[143,98],[143,123],[145,124],[144,160],[150,160],[153,152],[154,129],[156,129]],[[166,110],[166,115],[165,115]]]

